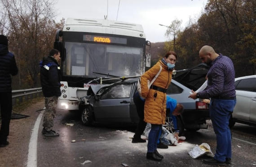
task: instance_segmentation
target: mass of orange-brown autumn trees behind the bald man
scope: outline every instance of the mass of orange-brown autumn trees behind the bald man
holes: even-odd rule
[[[203,45],[229,56],[237,77],[256,74],[256,1],[208,0],[198,21],[177,35],[179,63],[187,68],[199,63],[198,51]]]

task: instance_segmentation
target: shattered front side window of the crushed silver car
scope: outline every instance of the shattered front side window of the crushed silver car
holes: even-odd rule
[[[110,87],[101,96],[101,99],[119,99],[129,98],[132,90],[132,84],[119,84]]]

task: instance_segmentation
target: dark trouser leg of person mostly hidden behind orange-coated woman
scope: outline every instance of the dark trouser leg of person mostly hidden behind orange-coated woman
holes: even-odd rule
[[[135,134],[133,138],[141,138],[141,134],[143,133],[145,127],[146,127],[146,122],[144,121],[144,104],[145,101],[141,100],[141,97],[139,96],[139,93],[136,92],[133,96],[133,101],[136,105],[137,108],[137,113],[140,118],[140,121],[137,125],[137,128],[135,130]]]

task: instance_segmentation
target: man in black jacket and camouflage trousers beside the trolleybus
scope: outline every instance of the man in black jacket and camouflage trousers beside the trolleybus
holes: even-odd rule
[[[40,79],[44,94],[45,112],[42,134],[46,137],[59,136],[53,128],[53,119],[56,114],[58,97],[60,90],[60,52],[56,49],[50,51],[48,57],[44,57],[40,62]]]

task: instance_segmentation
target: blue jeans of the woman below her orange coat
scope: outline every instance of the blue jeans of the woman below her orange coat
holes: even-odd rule
[[[148,152],[152,153],[157,148],[157,141],[159,138],[159,131],[162,125],[151,124],[151,129],[148,137]]]

